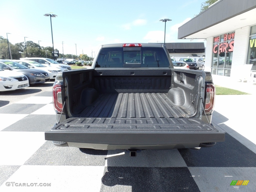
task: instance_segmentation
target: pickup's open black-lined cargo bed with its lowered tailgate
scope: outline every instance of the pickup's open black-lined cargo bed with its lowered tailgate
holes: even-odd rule
[[[45,132],[45,139],[101,150],[193,148],[224,141],[224,133],[202,121],[205,76],[185,69],[65,72],[66,120]]]

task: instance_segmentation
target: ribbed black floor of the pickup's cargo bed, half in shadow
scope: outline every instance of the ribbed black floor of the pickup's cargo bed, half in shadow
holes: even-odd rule
[[[97,118],[180,118],[167,93],[104,93],[79,117]]]

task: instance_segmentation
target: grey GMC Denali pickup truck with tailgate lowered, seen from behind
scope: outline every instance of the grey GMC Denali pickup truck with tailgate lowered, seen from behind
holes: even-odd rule
[[[211,73],[174,69],[162,44],[102,45],[91,69],[58,72],[52,91],[58,123],[45,140],[56,146],[136,156],[225,140],[211,124]]]

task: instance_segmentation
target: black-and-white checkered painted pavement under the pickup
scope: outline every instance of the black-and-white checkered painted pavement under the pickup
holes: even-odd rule
[[[0,191],[256,191],[256,154],[228,133],[225,142],[199,151],[130,157],[45,141],[56,123],[49,91],[1,107],[0,116]],[[232,180],[249,183],[230,186]]]

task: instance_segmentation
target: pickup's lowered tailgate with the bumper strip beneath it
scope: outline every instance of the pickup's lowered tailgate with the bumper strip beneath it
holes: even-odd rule
[[[82,119],[82,118],[81,118]],[[118,119],[116,119],[117,121]],[[80,119],[79,119],[80,121]],[[196,121],[195,119],[191,120]],[[101,150],[173,149],[199,147],[200,143],[225,141],[225,133],[204,122],[186,125],[102,125],[95,121],[85,128],[81,124],[64,123],[45,132],[45,140],[67,142],[67,146]],[[125,126],[125,127],[124,127]]]

